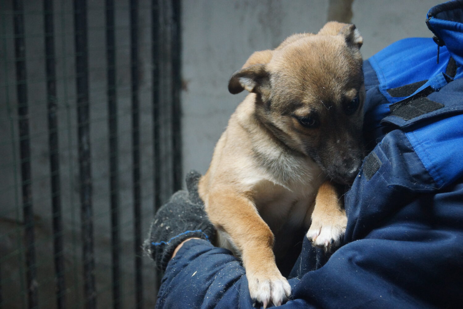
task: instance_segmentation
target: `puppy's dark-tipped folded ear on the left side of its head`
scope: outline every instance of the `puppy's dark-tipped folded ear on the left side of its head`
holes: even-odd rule
[[[244,89],[261,95],[266,101],[270,95],[270,74],[265,64],[254,64],[235,72],[228,82],[228,91],[236,95]]]

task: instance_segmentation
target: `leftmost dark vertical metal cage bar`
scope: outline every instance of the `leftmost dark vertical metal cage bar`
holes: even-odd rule
[[[21,159],[21,187],[23,216],[25,224],[26,282],[29,308],[38,306],[37,267],[35,259],[34,212],[32,208],[31,188],[31,143],[29,136],[29,107],[27,101],[27,84],[20,83],[27,79],[25,62],[24,3],[13,1],[14,54],[16,61],[16,91],[18,95],[19,157]]]

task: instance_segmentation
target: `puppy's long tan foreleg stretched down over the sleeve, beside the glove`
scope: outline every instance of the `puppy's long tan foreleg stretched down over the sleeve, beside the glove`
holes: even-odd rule
[[[211,222],[230,236],[241,252],[249,292],[252,299],[264,307],[280,305],[290,294],[291,287],[275,264],[274,236],[257,213],[254,204],[232,189],[209,193],[206,211]]]

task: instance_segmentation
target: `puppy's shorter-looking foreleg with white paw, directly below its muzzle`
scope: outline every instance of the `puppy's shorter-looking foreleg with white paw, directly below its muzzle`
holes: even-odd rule
[[[312,240],[313,246],[328,251],[331,246],[339,245],[346,226],[347,217],[341,207],[338,193],[332,183],[326,181],[318,190],[307,238]]]

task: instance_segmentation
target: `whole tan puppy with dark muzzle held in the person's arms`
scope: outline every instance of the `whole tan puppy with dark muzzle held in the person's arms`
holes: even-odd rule
[[[313,245],[329,249],[345,231],[330,181],[351,182],[362,160],[362,42],[354,25],[330,22],[255,52],[230,79],[232,94],[250,94],[220,137],[199,193],[219,246],[241,256],[250,296],[264,308],[291,293],[274,255],[289,244],[274,248],[274,235],[310,226]]]

